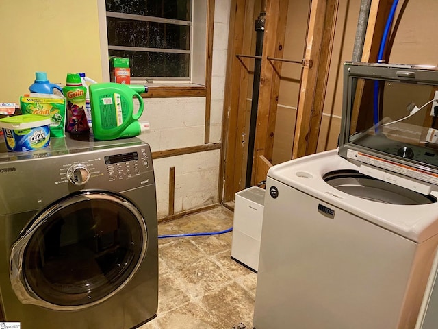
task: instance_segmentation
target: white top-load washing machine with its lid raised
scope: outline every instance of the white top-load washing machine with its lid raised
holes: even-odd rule
[[[435,90],[436,67],[344,64],[339,149],[268,172],[256,329],[415,327],[438,245]]]

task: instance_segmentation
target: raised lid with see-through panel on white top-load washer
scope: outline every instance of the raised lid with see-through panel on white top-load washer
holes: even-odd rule
[[[438,185],[438,67],[347,62],[342,106],[340,156]]]

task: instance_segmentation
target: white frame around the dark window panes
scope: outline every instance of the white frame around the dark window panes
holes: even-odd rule
[[[101,67],[102,78],[104,82],[110,81],[110,68],[108,65],[108,38],[107,38],[107,18],[105,0],[98,0],[98,14],[99,14],[99,33],[101,42]],[[164,88],[168,90],[181,89],[187,93],[194,93],[194,96],[201,96],[200,91],[205,89],[207,84],[207,49],[209,42],[207,36],[213,34],[209,29],[209,0],[192,0],[192,33],[190,40],[190,80],[153,80],[147,82],[141,78],[133,77],[131,84],[145,84],[148,83],[149,90],[151,88]],[[212,18],[211,18],[212,19]],[[194,64],[196,63],[196,64]],[[209,64],[210,65],[210,64]],[[209,70],[211,71],[211,70]],[[183,88],[181,88],[183,87]],[[158,93],[162,95],[162,93]],[[205,93],[201,93],[205,95]]]

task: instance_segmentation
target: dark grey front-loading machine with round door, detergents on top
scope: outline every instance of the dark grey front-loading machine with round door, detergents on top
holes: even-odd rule
[[[158,302],[149,145],[53,138],[0,144],[0,293],[21,328],[136,328]]]

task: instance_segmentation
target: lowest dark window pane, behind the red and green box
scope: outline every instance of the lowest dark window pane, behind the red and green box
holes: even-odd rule
[[[189,77],[188,53],[110,50],[110,56],[129,58],[133,77]]]

